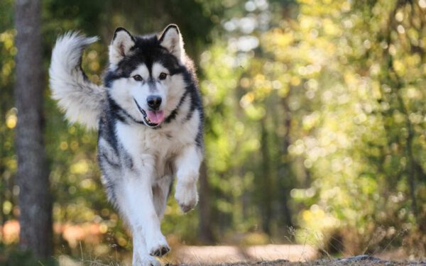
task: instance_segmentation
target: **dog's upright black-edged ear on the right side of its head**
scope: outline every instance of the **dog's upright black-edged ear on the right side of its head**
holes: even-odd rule
[[[182,56],[185,53],[183,50],[182,35],[177,25],[170,24],[165,27],[163,33],[161,33],[160,45],[166,48],[172,55],[175,55],[179,60],[182,60]]]

